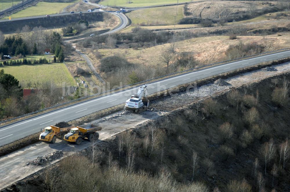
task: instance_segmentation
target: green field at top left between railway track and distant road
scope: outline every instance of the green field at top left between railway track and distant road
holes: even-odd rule
[[[78,0],[75,0],[70,3],[39,2],[34,6],[18,11],[10,16],[11,18],[17,18],[17,17],[28,17],[28,16],[35,16],[35,15],[60,13],[65,7],[76,2],[78,2]],[[7,19],[7,18],[8,17],[5,17],[4,19]]]

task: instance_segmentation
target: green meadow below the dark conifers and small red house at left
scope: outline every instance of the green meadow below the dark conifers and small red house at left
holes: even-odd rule
[[[58,87],[62,87],[63,83],[67,86],[76,85],[75,80],[63,63],[1,66],[1,69],[4,69],[5,73],[13,75],[24,86],[29,81],[32,83],[52,81]]]

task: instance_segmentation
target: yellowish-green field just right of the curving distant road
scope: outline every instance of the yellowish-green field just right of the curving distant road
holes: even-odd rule
[[[183,5],[141,9],[126,14],[132,21],[132,25],[174,25],[184,18]]]

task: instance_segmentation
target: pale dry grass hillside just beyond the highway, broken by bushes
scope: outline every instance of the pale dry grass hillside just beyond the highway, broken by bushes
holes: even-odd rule
[[[265,51],[272,51],[289,47],[290,33],[281,33],[282,36],[238,36],[235,40],[229,40],[229,36],[209,36],[192,38],[177,43],[177,52],[191,51],[195,55],[197,61],[203,63],[213,63],[219,61],[225,56],[226,49],[230,45],[243,43],[258,43],[265,47]],[[114,54],[122,54],[129,62],[144,64],[146,66],[163,66],[165,64],[160,60],[160,56],[164,53],[170,44],[157,45],[147,49],[98,49],[103,57]],[[96,69],[99,61],[95,62]]]

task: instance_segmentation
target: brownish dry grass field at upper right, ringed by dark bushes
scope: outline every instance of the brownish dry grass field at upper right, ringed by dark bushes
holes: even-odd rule
[[[262,1],[207,1],[189,4],[188,9],[192,14],[191,16],[218,19],[247,11],[250,8],[250,3],[253,3],[257,9],[268,6],[263,5]],[[275,4],[272,1],[271,3]]]

